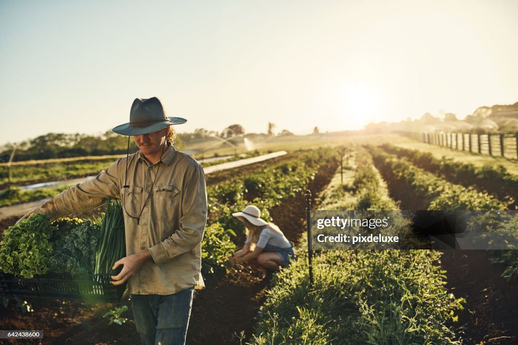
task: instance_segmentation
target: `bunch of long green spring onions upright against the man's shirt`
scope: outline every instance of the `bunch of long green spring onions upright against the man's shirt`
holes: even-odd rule
[[[95,274],[115,275],[113,264],[126,256],[124,215],[119,200],[108,198],[106,201],[106,213],[100,232],[95,252]],[[118,271],[120,268],[121,266],[118,267]]]

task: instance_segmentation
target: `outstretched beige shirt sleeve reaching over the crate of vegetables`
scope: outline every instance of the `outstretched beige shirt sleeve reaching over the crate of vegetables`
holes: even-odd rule
[[[120,198],[120,160],[101,171],[95,178],[72,186],[36,209],[51,218],[90,211],[102,205],[108,197]]]

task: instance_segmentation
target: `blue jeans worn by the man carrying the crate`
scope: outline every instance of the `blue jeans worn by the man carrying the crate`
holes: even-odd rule
[[[194,288],[172,295],[131,295],[133,316],[143,345],[183,345]]]

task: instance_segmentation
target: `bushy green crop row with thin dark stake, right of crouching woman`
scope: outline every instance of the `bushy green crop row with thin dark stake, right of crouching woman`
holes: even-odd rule
[[[366,152],[354,170],[344,185],[337,175],[321,209],[397,209]],[[439,259],[433,250],[321,251],[311,286],[300,256],[268,291],[252,343],[460,343],[452,324],[464,299],[444,289]]]

